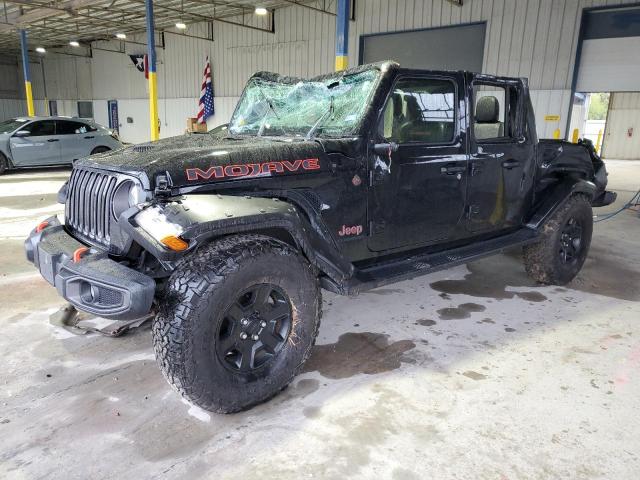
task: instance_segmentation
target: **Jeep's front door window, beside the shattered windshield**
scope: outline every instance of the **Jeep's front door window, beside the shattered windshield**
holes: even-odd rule
[[[450,143],[455,118],[453,82],[401,79],[387,101],[380,130],[385,139],[397,143]]]

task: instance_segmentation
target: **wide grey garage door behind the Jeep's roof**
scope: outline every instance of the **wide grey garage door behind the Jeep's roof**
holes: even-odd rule
[[[486,23],[364,35],[360,63],[395,60],[403,67],[482,71]]]

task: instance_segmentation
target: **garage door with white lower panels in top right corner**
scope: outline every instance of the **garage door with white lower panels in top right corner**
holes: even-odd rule
[[[640,90],[640,7],[587,12],[578,92]]]

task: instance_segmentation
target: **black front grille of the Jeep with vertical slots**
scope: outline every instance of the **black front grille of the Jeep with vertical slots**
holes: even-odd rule
[[[84,237],[109,245],[113,195],[118,177],[76,168],[71,173],[65,217],[67,226]]]

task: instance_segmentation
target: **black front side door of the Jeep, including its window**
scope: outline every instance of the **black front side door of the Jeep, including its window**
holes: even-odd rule
[[[460,74],[400,76],[386,100],[372,164],[369,248],[387,251],[452,239],[465,212],[467,153]],[[378,153],[375,152],[378,150]]]

